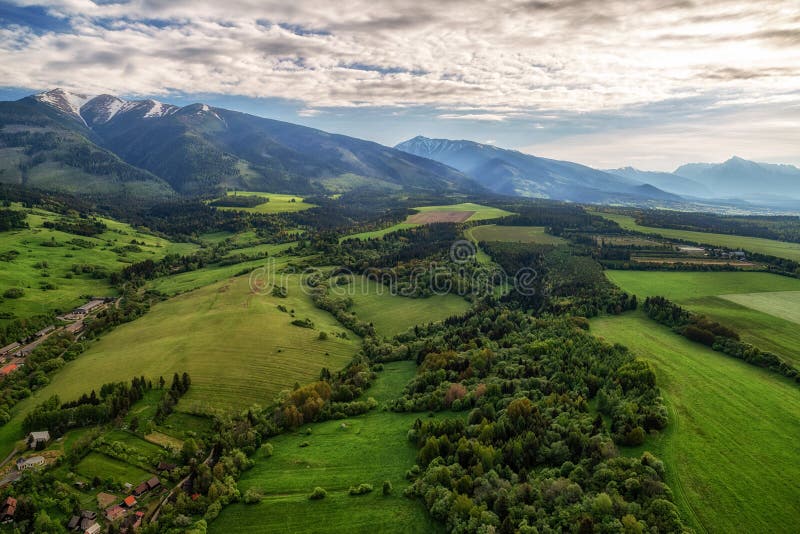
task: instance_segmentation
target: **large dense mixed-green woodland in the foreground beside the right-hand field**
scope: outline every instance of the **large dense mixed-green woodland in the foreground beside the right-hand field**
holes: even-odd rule
[[[409,431],[409,493],[451,531],[682,529],[663,464],[616,448],[666,425],[655,375],[582,326],[495,305],[366,348],[420,364],[392,409],[469,412]]]

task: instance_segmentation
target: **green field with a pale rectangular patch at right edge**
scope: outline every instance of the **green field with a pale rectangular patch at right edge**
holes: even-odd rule
[[[800,280],[747,272],[606,271],[606,275],[639,298],[667,297],[734,328],[744,341],[800,364],[796,321]]]

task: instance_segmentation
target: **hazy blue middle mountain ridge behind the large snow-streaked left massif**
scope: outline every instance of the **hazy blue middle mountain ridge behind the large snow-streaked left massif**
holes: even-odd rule
[[[417,136],[395,148],[450,165],[495,193],[574,202],[681,200],[625,176],[474,141]]]

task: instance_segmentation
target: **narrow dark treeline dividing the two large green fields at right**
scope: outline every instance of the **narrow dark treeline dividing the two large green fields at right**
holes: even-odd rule
[[[671,327],[691,341],[782,374],[800,383],[800,370],[779,356],[740,340],[738,332],[703,315],[694,314],[664,297],[648,297],[643,305],[651,319]]]

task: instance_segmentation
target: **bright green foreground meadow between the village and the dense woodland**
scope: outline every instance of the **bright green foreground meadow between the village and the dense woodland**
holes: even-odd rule
[[[413,362],[387,364],[367,394],[379,402],[402,391],[414,375]],[[406,433],[417,414],[373,410],[350,419],[302,427],[294,434],[270,440],[274,454],[256,454],[256,466],[239,483],[263,492],[255,505],[225,507],[209,525],[212,533],[306,532],[438,532],[422,503],[403,497],[408,486],[404,473],[415,463],[416,450]],[[306,428],[311,433],[306,433]],[[304,442],[308,446],[301,447]],[[389,480],[391,495],[381,493]],[[350,496],[350,486],[372,484],[367,495]],[[324,488],[325,499],[309,500],[314,487]]]

